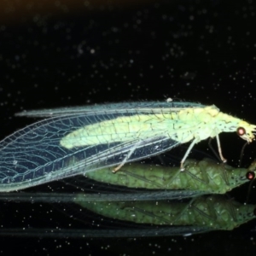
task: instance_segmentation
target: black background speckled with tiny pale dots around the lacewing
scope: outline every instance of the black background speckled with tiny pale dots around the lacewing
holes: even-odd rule
[[[22,109],[168,97],[215,104],[224,113],[256,123],[252,0],[4,1],[0,17],[2,138],[34,121],[14,118]],[[220,138],[224,156],[236,166],[243,142],[236,134]],[[207,150],[207,143],[198,147]],[[244,165],[254,157],[252,143]],[[244,201],[245,194],[237,193],[236,199]],[[50,205],[3,203],[1,228],[37,223],[56,228],[66,220],[61,212],[53,212]],[[234,231],[186,238],[0,237],[0,243],[6,255],[17,249],[28,255],[256,252],[255,221]]]

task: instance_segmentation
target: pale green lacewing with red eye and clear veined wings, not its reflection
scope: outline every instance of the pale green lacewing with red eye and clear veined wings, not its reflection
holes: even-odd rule
[[[18,113],[45,118],[0,143],[0,191],[25,189],[102,167],[164,153],[183,143],[190,146],[218,134],[236,131],[248,143],[255,125],[222,113],[215,106],[191,102],[126,102],[80,108]],[[74,160],[74,165],[67,163]]]

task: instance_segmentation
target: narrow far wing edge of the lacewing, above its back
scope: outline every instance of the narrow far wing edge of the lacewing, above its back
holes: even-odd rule
[[[54,117],[77,115],[79,113],[86,114],[110,114],[110,113],[170,113],[180,111],[182,108],[204,108],[205,105],[193,102],[124,102],[102,104],[95,106],[84,106],[75,108],[53,108],[32,110],[16,113],[16,116],[26,117]]]

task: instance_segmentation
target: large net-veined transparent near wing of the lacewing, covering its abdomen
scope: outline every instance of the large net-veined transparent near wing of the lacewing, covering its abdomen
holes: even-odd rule
[[[136,114],[140,113],[128,113],[132,116]],[[110,140],[108,143],[102,143],[98,135],[94,135],[91,139],[96,143],[93,145],[71,149],[60,144],[61,138],[71,131],[124,115],[127,113],[59,116],[29,125],[5,138],[0,143],[0,191],[24,189],[102,167],[118,166],[131,150],[127,162],[161,154],[179,144],[166,131],[153,135],[148,131],[143,133],[143,139],[135,135],[129,141]],[[172,132],[173,137],[177,131]],[[119,136],[126,137],[128,134]]]

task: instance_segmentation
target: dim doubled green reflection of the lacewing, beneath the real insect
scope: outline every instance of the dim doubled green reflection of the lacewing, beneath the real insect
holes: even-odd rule
[[[184,236],[211,230],[232,230],[254,218],[255,206],[253,205],[244,205],[229,200],[224,195],[202,195],[212,193],[212,191],[224,193],[239,186],[247,180],[247,169],[217,164],[209,159],[187,160],[187,163],[186,172],[190,174],[179,172],[178,166],[166,167],[147,164],[124,166],[120,172],[114,175],[109,175],[108,168],[91,172],[93,176],[97,176],[96,173],[98,172],[101,182],[104,183],[117,184],[118,180],[121,181],[117,187],[108,185],[105,190],[96,191],[94,187],[96,182],[91,179],[92,177],[90,179],[79,177],[78,183],[73,183],[75,187],[81,186],[81,188],[77,188],[79,192],[29,193],[25,191],[2,194],[0,198],[2,201],[51,202],[57,203],[57,205],[60,203],[69,205],[74,209],[74,212],[79,213],[79,217],[76,218],[82,216],[81,220],[86,224],[92,219],[93,224],[77,230],[28,229],[23,230],[22,233],[21,230],[8,229],[1,230],[1,235],[37,236],[38,232],[38,236],[42,237]],[[249,167],[250,175],[255,172],[254,165],[253,163]],[[204,172],[206,171],[204,168],[210,167],[212,174],[210,170]],[[151,171],[154,169],[154,172],[149,175],[150,169]],[[162,175],[162,172],[167,171],[166,169],[172,173],[171,178],[160,179],[160,177],[166,177]],[[107,180],[104,180],[104,172],[108,173],[106,174]],[[203,176],[204,179],[196,178],[195,174],[201,175],[201,173],[208,173],[209,176],[207,178]],[[225,175],[223,175],[224,173]],[[182,182],[185,186],[174,189],[171,184],[177,185],[177,182],[174,181],[175,179],[180,181],[180,175],[187,175],[188,183]],[[109,177],[113,177],[113,180],[111,181]],[[159,186],[161,180],[164,181],[162,187]],[[223,188],[218,191],[214,190],[214,186],[209,180],[215,180],[217,185],[220,184],[219,180],[222,180]],[[124,181],[125,185],[133,184],[130,186],[133,189],[120,189],[120,185],[124,185]],[[193,187],[194,183],[198,184]],[[201,185],[201,183],[207,183],[207,185]],[[207,187],[212,188],[204,189]],[[193,196],[194,198],[189,198]],[[96,220],[93,220],[93,216],[102,219],[99,217],[100,215],[107,218],[106,223],[102,224],[100,221],[100,224],[96,224]],[[123,221],[125,224],[122,224]]]

